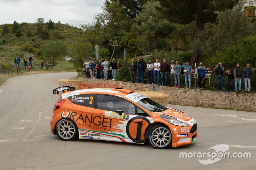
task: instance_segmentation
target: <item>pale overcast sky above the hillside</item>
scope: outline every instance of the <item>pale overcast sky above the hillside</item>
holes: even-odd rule
[[[0,0],[0,25],[44,22],[68,23],[70,26],[91,23],[93,15],[101,13],[105,0]]]

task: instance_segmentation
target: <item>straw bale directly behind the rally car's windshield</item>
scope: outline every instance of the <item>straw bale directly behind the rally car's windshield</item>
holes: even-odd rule
[[[170,100],[170,96],[168,94],[164,94],[164,93],[159,93],[159,92],[136,92],[139,93],[143,96],[146,96],[149,99],[152,99],[154,101],[156,101],[157,103],[163,105],[163,106],[167,106],[169,100]]]

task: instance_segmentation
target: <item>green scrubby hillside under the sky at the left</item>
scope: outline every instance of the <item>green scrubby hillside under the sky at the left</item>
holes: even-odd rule
[[[30,54],[37,56],[37,51],[45,41],[62,40],[71,44],[84,33],[77,27],[61,23],[17,23],[17,25],[17,29],[14,23],[0,25],[0,57],[8,59],[17,55],[22,58],[23,55]]]

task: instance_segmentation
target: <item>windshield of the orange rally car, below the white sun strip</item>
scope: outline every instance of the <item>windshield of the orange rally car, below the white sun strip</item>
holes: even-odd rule
[[[137,104],[151,112],[162,112],[167,109],[167,107],[162,106],[149,98],[143,98],[139,100]]]

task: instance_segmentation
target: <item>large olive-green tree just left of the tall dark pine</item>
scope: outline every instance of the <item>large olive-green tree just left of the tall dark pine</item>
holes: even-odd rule
[[[150,53],[155,49],[169,49],[168,41],[174,26],[156,10],[156,5],[159,5],[159,2],[149,1],[144,4],[143,10],[135,18],[136,23],[131,26],[131,38],[135,38],[132,33],[135,32],[138,49],[143,53]]]

